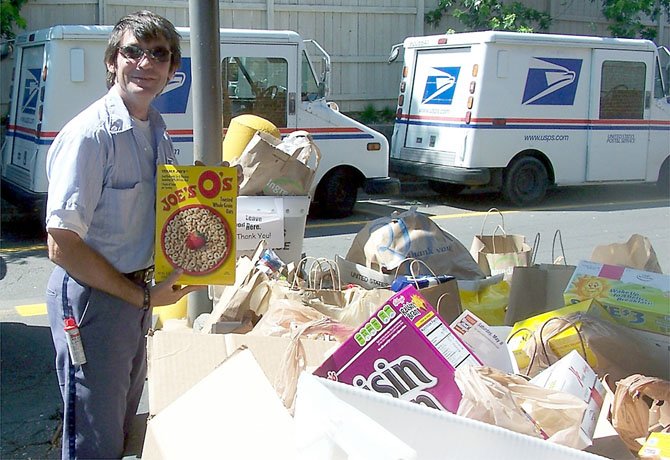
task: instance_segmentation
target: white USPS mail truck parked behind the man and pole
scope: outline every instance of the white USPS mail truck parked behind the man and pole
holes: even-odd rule
[[[106,92],[104,50],[110,26],[55,26],[17,37],[7,136],[2,148],[3,197],[41,208],[47,192],[46,153],[59,130]],[[182,63],[155,101],[166,119],[180,164],[193,163],[193,100],[188,28]],[[313,210],[326,217],[352,212],[360,187],[397,192],[388,177],[386,138],[345,116],[326,100],[330,57],[312,61],[291,31],[222,29],[223,126],[251,113],[273,122],[282,135],[312,134],[322,157],[310,190]],[[317,77],[316,69],[323,72]],[[212,69],[213,72],[219,69]]]

